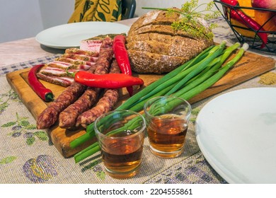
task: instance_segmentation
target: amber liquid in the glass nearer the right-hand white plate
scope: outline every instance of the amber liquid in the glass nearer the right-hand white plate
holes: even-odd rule
[[[152,148],[165,153],[183,148],[188,125],[185,120],[180,120],[178,117],[178,115],[167,114],[161,115],[161,119],[151,120],[147,132]]]

